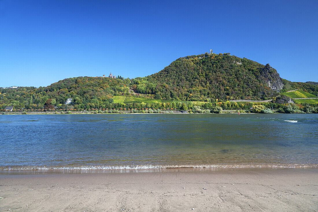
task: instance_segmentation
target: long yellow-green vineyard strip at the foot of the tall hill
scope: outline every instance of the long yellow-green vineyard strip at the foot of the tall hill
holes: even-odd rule
[[[184,103],[187,105],[190,104],[196,104],[196,105],[202,105],[206,102],[200,102],[200,101],[183,101],[183,100],[161,100],[161,99],[150,99],[146,97],[136,97],[136,96],[114,96],[114,103],[148,103],[148,104],[153,104],[155,102],[161,102],[161,103]]]

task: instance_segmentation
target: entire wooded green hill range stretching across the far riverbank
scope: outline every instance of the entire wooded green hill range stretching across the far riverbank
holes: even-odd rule
[[[132,94],[131,89],[137,94]],[[67,78],[47,87],[0,88],[0,110],[6,106],[17,110],[66,110],[67,98],[73,99],[69,108],[74,110],[136,108],[142,102],[148,106],[160,103],[166,108],[175,104],[191,107],[232,99],[269,99],[296,89],[283,94],[291,98],[318,95],[315,83],[281,79],[269,64],[264,66],[230,53],[205,53],[181,57],[156,74],[131,80],[86,76]]]

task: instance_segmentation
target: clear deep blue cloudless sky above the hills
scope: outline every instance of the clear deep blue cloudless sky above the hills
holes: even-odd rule
[[[210,48],[318,81],[317,26],[317,0],[0,0],[0,87],[147,76]]]

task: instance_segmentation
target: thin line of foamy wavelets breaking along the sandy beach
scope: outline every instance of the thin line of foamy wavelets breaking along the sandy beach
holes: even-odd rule
[[[318,169],[318,164],[254,164],[254,165],[201,165],[201,166],[10,166],[0,167],[1,175],[25,174],[78,174],[78,173],[151,173],[228,170]]]

